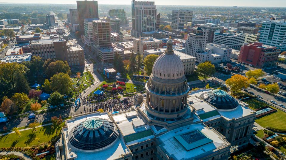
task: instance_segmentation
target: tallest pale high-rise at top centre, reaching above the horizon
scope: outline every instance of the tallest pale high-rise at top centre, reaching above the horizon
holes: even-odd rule
[[[155,2],[132,1],[132,30],[133,37],[140,37],[142,32],[156,30],[157,8]]]

